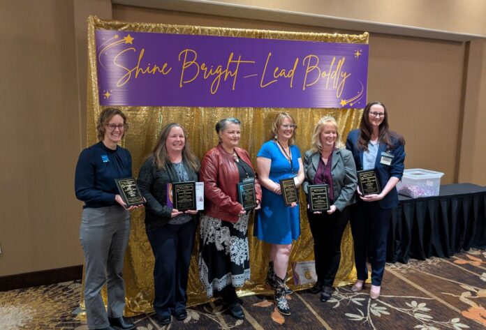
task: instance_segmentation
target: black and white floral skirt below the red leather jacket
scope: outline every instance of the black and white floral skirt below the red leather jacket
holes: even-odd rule
[[[249,214],[237,223],[202,216],[200,222],[199,277],[207,297],[227,285],[241,287],[250,278]]]

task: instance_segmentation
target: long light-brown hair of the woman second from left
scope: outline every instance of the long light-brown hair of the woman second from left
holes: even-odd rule
[[[182,149],[182,161],[188,164],[195,172],[197,172],[199,170],[200,163],[196,155],[191,150],[186,130],[178,123],[168,123],[167,125],[163,126],[161,130],[159,138],[157,139],[157,143],[154,147],[154,151],[152,151],[152,156],[154,156],[157,168],[159,168],[159,170],[165,170],[165,164],[170,162],[167,153],[167,147],[165,147],[165,142],[167,141],[170,130],[173,127],[180,127],[182,128],[182,132],[184,132],[184,149]]]

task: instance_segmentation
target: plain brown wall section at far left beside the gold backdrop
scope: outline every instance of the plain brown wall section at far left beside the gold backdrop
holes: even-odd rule
[[[76,2],[0,1],[0,276],[83,262],[74,169],[87,71],[78,68],[74,22],[86,30],[87,15],[75,17]]]

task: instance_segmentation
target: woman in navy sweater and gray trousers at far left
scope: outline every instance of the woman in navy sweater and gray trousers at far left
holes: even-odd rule
[[[123,319],[125,283],[121,277],[130,235],[130,211],[115,179],[131,177],[131,155],[119,147],[128,128],[121,110],[107,108],[98,118],[98,142],[84,149],[76,165],[75,192],[84,202],[80,240],[84,251],[84,304],[89,329],[133,329]],[[108,313],[101,288],[108,281]]]

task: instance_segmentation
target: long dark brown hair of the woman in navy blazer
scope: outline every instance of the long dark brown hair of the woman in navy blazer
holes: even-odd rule
[[[378,141],[387,145],[387,149],[392,149],[395,141],[405,144],[404,137],[396,132],[393,132],[388,127],[388,111],[383,103],[380,101],[370,102],[364,107],[363,117],[361,117],[360,123],[360,137],[358,138],[358,149],[367,151],[368,144],[371,140],[371,123],[369,123],[369,111],[373,105],[381,105],[385,111],[385,117],[378,127]]]

